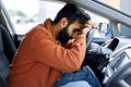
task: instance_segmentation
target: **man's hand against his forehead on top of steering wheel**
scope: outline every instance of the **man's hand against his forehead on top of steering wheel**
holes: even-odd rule
[[[84,29],[82,34],[86,36],[91,28],[97,28],[97,25],[94,22],[88,21],[86,24],[84,24]]]

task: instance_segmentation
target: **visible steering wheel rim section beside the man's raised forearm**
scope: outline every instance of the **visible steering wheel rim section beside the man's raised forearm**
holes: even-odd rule
[[[93,41],[94,34],[95,34],[95,29],[91,28],[91,30],[86,35],[86,50],[88,50],[88,48]]]

